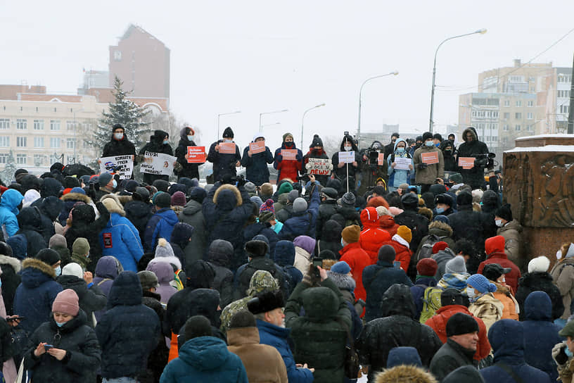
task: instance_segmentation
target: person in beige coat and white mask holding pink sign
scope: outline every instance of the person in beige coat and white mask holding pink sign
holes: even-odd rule
[[[442,151],[435,146],[431,132],[423,134],[423,145],[414,151],[413,163],[416,169],[414,182],[421,185],[421,194],[428,192],[437,178],[445,177]]]

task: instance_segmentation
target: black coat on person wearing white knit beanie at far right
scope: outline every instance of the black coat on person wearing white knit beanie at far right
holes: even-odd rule
[[[524,302],[532,291],[544,291],[548,294],[552,302],[552,320],[556,320],[562,316],[564,313],[564,303],[560,290],[554,283],[552,276],[548,272],[528,272],[518,280],[518,289],[516,289],[516,295],[514,296],[521,309],[519,314],[520,320],[524,320],[525,318]]]

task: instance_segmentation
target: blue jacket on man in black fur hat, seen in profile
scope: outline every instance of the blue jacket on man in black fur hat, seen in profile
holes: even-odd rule
[[[287,377],[290,383],[307,383],[313,382],[313,373],[305,368],[297,368],[295,358],[289,347],[288,337],[291,329],[272,325],[257,319],[257,329],[259,329],[260,344],[274,346],[281,354],[285,367],[287,368]]]

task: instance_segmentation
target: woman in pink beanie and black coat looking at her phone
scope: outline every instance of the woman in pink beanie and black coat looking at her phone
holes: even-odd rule
[[[47,377],[60,383],[96,382],[101,350],[74,290],[60,291],[50,320],[32,333],[28,344],[32,347],[24,354],[24,368],[32,370],[32,382]]]

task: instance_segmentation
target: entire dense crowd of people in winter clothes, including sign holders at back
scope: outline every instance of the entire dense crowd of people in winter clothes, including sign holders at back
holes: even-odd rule
[[[172,153],[165,132],[139,154],[124,133],[103,156]],[[527,258],[473,128],[458,148],[345,134],[354,161],[334,153],[329,174],[317,135],[305,156],[289,133],[274,154],[227,153],[233,137],[206,153],[208,184],[190,127],[177,182],[61,163],[3,180],[6,382],[572,381],[574,244]]]

